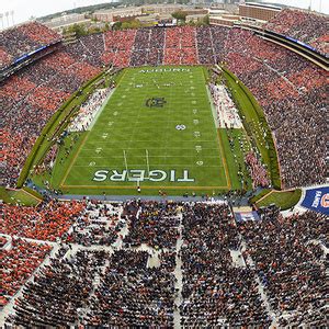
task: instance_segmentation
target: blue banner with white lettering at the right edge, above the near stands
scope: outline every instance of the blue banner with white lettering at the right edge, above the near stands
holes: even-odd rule
[[[300,205],[310,211],[329,215],[329,186],[306,190]]]

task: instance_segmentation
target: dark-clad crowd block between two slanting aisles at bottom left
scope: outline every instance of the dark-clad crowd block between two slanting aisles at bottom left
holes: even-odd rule
[[[15,315],[8,321],[24,327],[73,325],[79,309],[93,290],[92,279],[105,261],[104,251],[79,250],[75,257],[64,258],[67,248],[58,251],[27,283],[23,297],[15,303]]]

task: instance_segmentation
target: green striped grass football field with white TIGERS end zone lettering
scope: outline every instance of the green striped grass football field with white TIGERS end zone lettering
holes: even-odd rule
[[[203,67],[129,68],[60,179],[73,191],[230,188]],[[122,192],[121,192],[122,194]],[[149,194],[149,193],[148,193]]]

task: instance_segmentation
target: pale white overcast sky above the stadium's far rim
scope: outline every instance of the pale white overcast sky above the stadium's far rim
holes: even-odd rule
[[[83,7],[89,4],[99,4],[110,2],[109,0],[0,0],[0,13],[13,11],[13,22],[9,15],[9,25],[27,21],[31,16],[43,16],[50,13]],[[329,14],[329,0],[263,0],[263,2],[276,2],[287,5],[307,9],[311,4],[311,10]],[[1,23],[7,27],[7,19]],[[0,24],[1,24],[0,23]],[[2,26],[0,25],[0,29]]]

